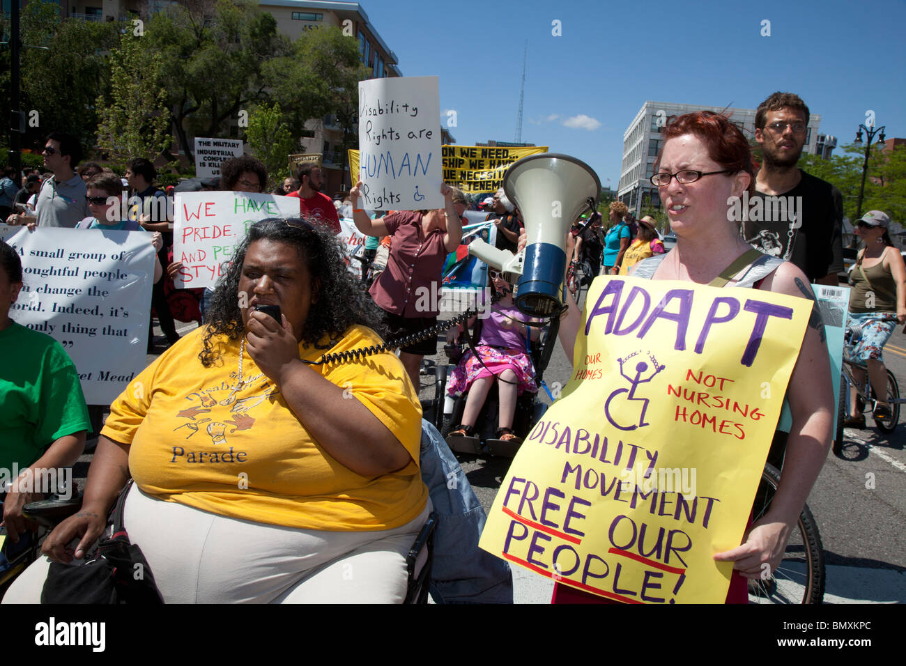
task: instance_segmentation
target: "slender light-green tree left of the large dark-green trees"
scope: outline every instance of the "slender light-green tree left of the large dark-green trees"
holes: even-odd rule
[[[127,30],[111,52],[111,92],[98,97],[98,145],[117,162],[155,159],[169,148],[167,92],[159,80],[163,56],[144,48],[143,37]]]

